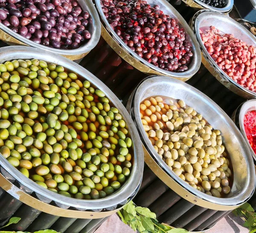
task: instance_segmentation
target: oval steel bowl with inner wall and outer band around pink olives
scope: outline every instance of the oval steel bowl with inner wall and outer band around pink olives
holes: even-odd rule
[[[207,49],[202,43],[199,29],[209,26],[215,26],[217,29],[221,30],[221,32],[233,34],[235,37],[253,46],[256,46],[256,37],[247,29],[245,29],[244,26],[236,22],[236,20],[233,20],[227,15],[221,14],[219,12],[202,10],[197,12],[192,19],[192,29],[199,42],[199,46],[203,55],[202,63],[204,66],[206,66],[209,72],[211,72],[219,82],[221,82],[232,92],[240,95],[245,99],[256,98],[256,92],[250,91],[233,81],[233,79],[231,79],[222,71],[222,69],[218,67],[218,65],[207,52]]]

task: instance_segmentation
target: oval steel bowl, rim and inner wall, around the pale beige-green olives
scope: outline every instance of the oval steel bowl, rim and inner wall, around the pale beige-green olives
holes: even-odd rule
[[[140,103],[151,96],[166,96],[182,99],[187,106],[191,106],[198,113],[203,115],[204,119],[208,121],[214,129],[219,129],[221,131],[223,143],[230,155],[230,160],[233,165],[233,185],[231,187],[231,192],[226,198],[208,196],[207,194],[194,189],[170,170],[167,164],[159,157],[145,133],[140,118]],[[252,196],[255,189],[255,170],[253,166],[253,158],[250,155],[250,149],[233,121],[209,97],[204,95],[198,89],[176,79],[163,76],[151,76],[139,84],[134,91],[132,100],[130,99],[129,101],[131,103],[131,116],[139,131],[145,149],[151,156],[151,160],[156,161],[170,178],[183,187],[183,191],[181,190],[180,192],[181,194],[178,193],[180,196],[186,199],[189,195],[184,194],[186,190],[196,197],[207,201],[208,206],[206,208],[212,208],[212,203],[218,204],[218,207],[220,207],[220,205],[238,206]],[[177,190],[173,190],[177,192]],[[197,201],[198,204],[199,201],[200,200]]]

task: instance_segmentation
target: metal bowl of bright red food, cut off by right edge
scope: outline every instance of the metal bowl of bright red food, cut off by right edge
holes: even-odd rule
[[[240,129],[244,139],[246,141],[247,146],[250,148],[250,152],[253,155],[254,161],[256,161],[256,154],[250,146],[249,141],[247,140],[247,136],[244,130],[244,115],[252,110],[256,110],[256,100],[249,100],[241,104],[236,111],[233,113],[232,119],[236,123],[236,126]]]

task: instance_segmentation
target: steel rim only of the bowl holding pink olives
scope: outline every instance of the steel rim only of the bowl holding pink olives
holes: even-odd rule
[[[253,40],[255,40],[255,45],[256,45],[256,37],[252,33],[250,33],[247,29],[245,29],[244,26],[242,26],[240,23],[236,22],[236,20],[233,20],[229,16],[227,16],[225,14],[221,14],[219,12],[215,12],[212,10],[201,10],[201,11],[198,11],[192,18],[192,30],[195,33],[195,36],[199,42],[199,46],[200,46],[201,52],[204,55],[204,58],[210,63],[211,66],[214,67],[215,71],[218,72],[218,74],[221,75],[221,77],[225,79],[225,81],[228,81],[229,83],[236,86],[236,88],[247,93],[247,95],[250,95],[251,98],[256,98],[256,92],[250,91],[250,90],[244,88],[243,86],[241,86],[239,83],[236,83],[235,81],[233,81],[232,78],[230,78],[226,73],[224,73],[222,71],[222,69],[219,68],[217,63],[215,63],[215,61],[212,59],[212,57],[207,52],[207,49],[205,48],[204,44],[202,43],[202,39],[200,36],[199,22],[200,22],[200,20],[204,19],[204,17],[207,17],[209,15],[213,15],[214,17],[218,17],[218,18],[223,18],[224,20],[227,20],[227,21],[232,21],[233,23],[236,24],[236,26],[238,27],[239,30],[243,31],[244,34],[248,35]]]

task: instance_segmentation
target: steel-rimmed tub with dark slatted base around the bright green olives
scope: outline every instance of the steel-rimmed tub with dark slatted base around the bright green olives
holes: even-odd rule
[[[134,142],[134,162],[125,184],[110,196],[98,200],[80,200],[61,196],[39,186],[21,175],[2,155],[0,156],[0,225],[11,216],[21,217],[12,230],[36,231],[54,229],[58,232],[91,232],[107,216],[117,212],[137,193],[143,175],[143,149],[137,129],[125,107],[110,89],[78,64],[59,55],[26,46],[9,46],[0,51],[0,63],[13,59],[36,58],[64,66],[98,87],[113,103],[128,125]],[[93,219],[93,220],[92,220]],[[93,224],[95,222],[95,224]]]

